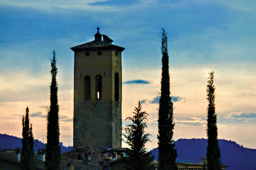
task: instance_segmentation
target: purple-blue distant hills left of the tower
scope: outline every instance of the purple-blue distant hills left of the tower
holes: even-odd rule
[[[22,147],[22,142],[21,142],[21,138],[15,137],[15,136],[9,136],[6,134],[0,134],[0,150],[4,150],[4,149],[15,149],[16,147],[19,147],[21,150]],[[34,152],[37,152],[38,149],[41,148],[45,148],[45,144],[38,141],[38,140],[34,140]],[[62,145],[61,142],[61,153],[65,153],[65,152],[69,152],[71,150],[73,150],[73,147],[65,147]]]

